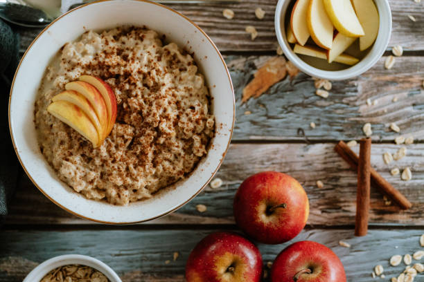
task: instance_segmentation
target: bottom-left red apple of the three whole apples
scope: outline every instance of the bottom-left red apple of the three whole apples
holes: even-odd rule
[[[246,238],[230,232],[215,232],[200,241],[186,265],[187,282],[258,282],[262,256]]]

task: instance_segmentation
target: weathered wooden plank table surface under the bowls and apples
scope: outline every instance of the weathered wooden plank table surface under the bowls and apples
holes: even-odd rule
[[[383,0],[377,0],[383,1]],[[286,77],[258,99],[241,103],[242,89],[256,69],[276,56],[274,33],[276,0],[242,0],[240,3],[170,5],[193,19],[222,51],[231,71],[236,93],[236,126],[227,157],[216,177],[222,187],[207,187],[177,212],[149,223],[110,226],[91,223],[56,207],[20,170],[17,193],[10,215],[0,232],[0,281],[21,281],[37,263],[60,254],[87,254],[110,265],[124,282],[184,281],[184,265],[195,244],[216,230],[237,230],[232,200],[238,185],[252,173],[276,170],[297,178],[308,193],[310,217],[306,229],[293,241],[313,240],[331,247],[344,263],[348,281],[374,281],[375,265],[385,267],[389,281],[403,271],[403,263],[389,267],[394,254],[420,250],[424,233],[424,5],[413,0],[390,0],[393,32],[387,52],[360,77],[333,82],[328,99],[315,95],[314,81],[300,73]],[[255,18],[257,7],[265,19]],[[231,8],[234,19],[222,17]],[[415,17],[416,21],[409,19]],[[251,41],[245,26],[258,30]],[[21,53],[39,30],[17,28]],[[392,46],[403,46],[391,70],[384,62]],[[40,70],[42,71],[42,70]],[[393,102],[394,97],[397,102]],[[367,106],[366,100],[378,100]],[[251,114],[245,114],[250,111]],[[310,122],[315,122],[311,129]],[[373,124],[371,163],[394,187],[413,203],[407,211],[387,205],[371,189],[369,234],[353,236],[356,174],[333,151],[338,140],[359,140],[362,126]],[[395,122],[400,133],[389,129]],[[303,129],[308,138],[298,134]],[[398,135],[413,135],[407,156],[385,164],[382,153],[394,153]],[[358,146],[354,148],[358,151]],[[390,169],[411,167],[412,180],[391,176]],[[316,181],[324,187],[319,189]],[[197,212],[204,204],[207,211]],[[341,247],[340,240],[351,244]],[[272,261],[283,245],[258,244],[264,262]],[[421,248],[421,250],[423,250]],[[174,261],[173,253],[179,256]],[[415,281],[424,281],[418,275]]]

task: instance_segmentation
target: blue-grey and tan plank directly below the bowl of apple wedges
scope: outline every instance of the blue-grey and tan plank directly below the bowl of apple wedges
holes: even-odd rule
[[[242,104],[242,89],[270,58],[227,57],[236,93],[233,140],[303,140],[299,128],[310,140],[357,139],[366,122],[373,124],[374,140],[393,140],[391,122],[403,134],[424,138],[424,57],[398,57],[391,70],[384,68],[383,57],[364,75],[333,82],[327,99],[315,95],[314,80],[300,73]],[[367,106],[367,99],[378,104]],[[310,122],[317,127],[311,129]]]

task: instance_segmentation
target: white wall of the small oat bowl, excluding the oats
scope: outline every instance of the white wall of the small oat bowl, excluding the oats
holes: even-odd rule
[[[63,265],[74,264],[93,267],[99,272],[105,274],[110,282],[122,282],[118,274],[116,274],[112,268],[105,265],[105,263],[98,259],[94,259],[91,256],[82,256],[81,254],[64,254],[63,256],[55,256],[54,258],[48,259],[31,270],[22,282],[39,282],[51,270]]]

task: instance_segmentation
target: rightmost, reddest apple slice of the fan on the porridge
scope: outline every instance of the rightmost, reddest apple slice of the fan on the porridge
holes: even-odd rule
[[[118,112],[118,108],[116,106],[116,96],[112,88],[98,77],[94,77],[92,75],[81,75],[79,78],[82,82],[87,82],[92,86],[96,87],[100,94],[103,96],[105,100],[105,104],[107,106],[107,116],[109,119],[109,124],[107,128],[107,135],[109,135],[110,131],[114,128],[114,124],[116,121],[116,114]]]

